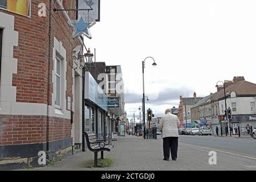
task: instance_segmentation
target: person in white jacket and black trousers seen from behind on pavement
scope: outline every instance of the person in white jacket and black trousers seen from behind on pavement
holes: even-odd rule
[[[162,130],[163,134],[163,152],[164,159],[169,160],[170,148],[172,160],[177,159],[177,148],[178,148],[178,127],[180,121],[176,115],[171,114],[170,109],[166,109],[166,115],[160,119],[159,129]]]

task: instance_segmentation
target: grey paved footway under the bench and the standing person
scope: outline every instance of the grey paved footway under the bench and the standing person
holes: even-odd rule
[[[146,139],[136,136],[118,137],[112,141],[114,148],[104,152],[105,158],[114,159],[111,167],[92,168],[94,154],[89,150],[69,156],[54,166],[28,170],[46,171],[209,171],[256,170],[256,156],[244,158],[217,151],[217,164],[209,164],[210,148],[179,143],[176,161],[163,160],[162,139]],[[100,152],[98,153],[100,158]]]

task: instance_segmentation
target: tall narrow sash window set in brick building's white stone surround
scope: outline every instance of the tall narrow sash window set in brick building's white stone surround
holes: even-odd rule
[[[56,69],[55,69],[55,107],[60,109],[60,86],[61,86],[61,61],[56,57]]]

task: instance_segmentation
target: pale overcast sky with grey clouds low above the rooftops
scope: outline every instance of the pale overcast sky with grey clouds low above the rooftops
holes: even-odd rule
[[[255,0],[104,0],[85,44],[97,61],[121,65],[129,119],[142,105],[142,61],[154,57],[157,67],[146,60],[146,109],[160,116],[180,95],[216,92],[218,80],[256,83],[255,7]]]

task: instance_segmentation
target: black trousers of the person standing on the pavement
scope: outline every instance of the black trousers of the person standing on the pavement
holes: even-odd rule
[[[163,138],[164,159],[170,158],[170,149],[171,149],[172,159],[177,159],[177,147],[178,147],[178,137]]]

